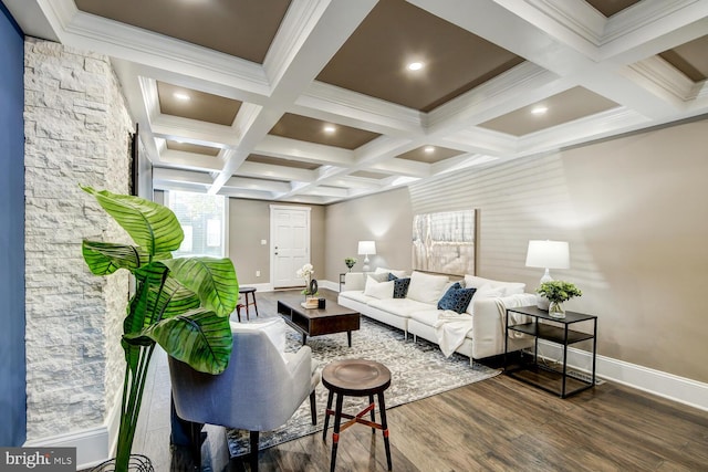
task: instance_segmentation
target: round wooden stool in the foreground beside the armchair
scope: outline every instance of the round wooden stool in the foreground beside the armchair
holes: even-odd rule
[[[334,415],[334,432],[332,433],[332,461],[330,471],[334,471],[336,463],[336,448],[340,442],[340,432],[355,423],[366,424],[375,433],[377,429],[384,432],[384,445],[386,448],[386,462],[391,470],[391,444],[388,443],[388,426],[386,423],[386,405],[384,402],[384,390],[391,386],[391,370],[383,364],[366,359],[343,359],[329,364],[322,370],[322,385],[330,395],[327,397],[327,409],[324,415],[324,431],[322,439],[326,441],[330,416]],[[336,408],[332,410],[332,400],[336,394]],[[342,412],[344,396],[368,397],[368,407],[356,416]],[[376,422],[374,412],[374,395],[378,398],[378,412],[381,423]],[[371,411],[371,421],[363,419],[364,415]],[[342,418],[348,419],[344,424]]]

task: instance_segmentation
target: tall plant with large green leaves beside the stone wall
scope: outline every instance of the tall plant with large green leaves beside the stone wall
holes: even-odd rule
[[[82,189],[135,242],[84,240],[82,244],[92,273],[110,275],[125,269],[135,280],[121,339],[126,369],[115,470],[125,471],[155,345],[196,370],[222,373],[231,356],[229,315],[236,308],[239,285],[228,258],[173,259],[184,232],[168,208],[138,197]]]

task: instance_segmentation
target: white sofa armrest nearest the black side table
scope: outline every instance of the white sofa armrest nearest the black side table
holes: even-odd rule
[[[481,359],[503,354],[507,308],[535,305],[535,295],[522,293],[472,300],[472,357]]]

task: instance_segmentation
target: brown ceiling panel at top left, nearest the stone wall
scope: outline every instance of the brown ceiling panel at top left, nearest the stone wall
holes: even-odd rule
[[[262,63],[290,0],[75,0],[76,7],[144,30]]]

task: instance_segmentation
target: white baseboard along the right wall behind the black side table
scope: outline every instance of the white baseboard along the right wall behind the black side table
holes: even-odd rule
[[[558,344],[541,339],[539,340],[539,355],[559,360],[563,358],[563,349]],[[584,373],[592,373],[592,354],[569,347],[568,365]],[[708,411],[708,384],[601,355],[596,357],[595,375],[604,380],[626,385]]]

